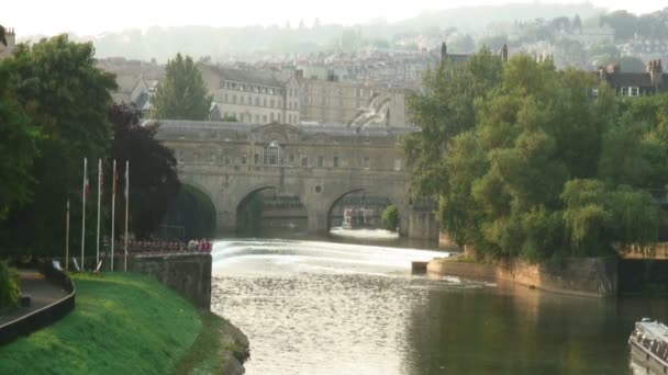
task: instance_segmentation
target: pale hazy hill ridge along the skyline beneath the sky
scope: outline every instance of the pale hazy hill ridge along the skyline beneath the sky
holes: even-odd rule
[[[466,7],[443,11],[425,11],[401,22],[388,23],[374,20],[356,26],[321,25],[318,27],[286,29],[278,26],[212,27],[153,26],[145,32],[126,30],[98,36],[76,36],[77,41],[92,41],[100,58],[123,56],[130,59],[165,63],[177,52],[198,59],[209,56],[213,60],[254,60],[270,56],[289,57],[300,53],[334,50],[350,43],[365,45],[374,42],[389,43],[397,35],[412,33],[438,34],[444,30],[457,30],[479,35],[491,23],[511,24],[515,21],[572,18],[588,19],[604,10],[591,3],[581,4],[506,4],[498,7]],[[32,38],[32,37],[27,37]],[[23,38],[26,39],[26,38]]]

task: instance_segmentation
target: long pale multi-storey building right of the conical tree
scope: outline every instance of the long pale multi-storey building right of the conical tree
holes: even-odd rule
[[[204,63],[198,69],[213,95],[212,117],[253,124],[300,123],[299,83],[293,75]]]

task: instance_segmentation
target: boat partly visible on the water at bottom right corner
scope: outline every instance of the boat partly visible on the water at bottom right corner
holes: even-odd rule
[[[643,318],[635,323],[628,338],[633,368],[644,374],[668,373],[668,327],[659,321]]]

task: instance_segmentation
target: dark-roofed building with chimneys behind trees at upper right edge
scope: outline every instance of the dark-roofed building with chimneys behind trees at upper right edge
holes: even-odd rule
[[[668,73],[664,73],[661,60],[652,60],[645,72],[620,71],[619,64],[599,69],[599,80],[612,87],[621,96],[643,96],[668,92]]]

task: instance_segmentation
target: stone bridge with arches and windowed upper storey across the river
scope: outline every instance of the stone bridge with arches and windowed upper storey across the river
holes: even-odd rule
[[[398,145],[415,128],[159,123],[157,138],[175,151],[179,180],[209,196],[219,230],[234,230],[245,201],[275,188],[299,196],[309,232],[329,231],[332,207],[348,193],[366,191],[398,207],[401,235],[437,238],[433,214],[413,211]]]

